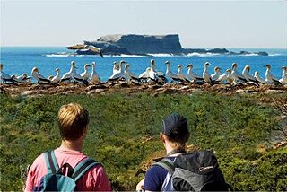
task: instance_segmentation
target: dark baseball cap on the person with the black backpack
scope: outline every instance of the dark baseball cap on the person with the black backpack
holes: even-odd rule
[[[161,133],[172,138],[188,134],[187,118],[178,113],[170,114],[170,116],[162,120]]]

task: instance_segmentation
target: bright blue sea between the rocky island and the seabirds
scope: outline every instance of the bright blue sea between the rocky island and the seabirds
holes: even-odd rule
[[[213,68],[220,66],[222,72],[231,68],[231,64],[238,64],[238,71],[242,72],[245,65],[250,65],[250,73],[259,72],[259,76],[265,78],[265,65],[272,66],[271,72],[278,79],[281,78],[283,65],[287,65],[287,49],[248,49],[248,48],[227,48],[230,51],[239,52],[246,50],[250,52],[266,51],[269,56],[257,56],[251,54],[248,56],[226,56],[218,54],[189,54],[188,56],[170,56],[168,54],[157,54],[152,57],[142,56],[105,56],[101,58],[95,56],[74,56],[73,50],[68,50],[65,47],[0,47],[0,61],[4,65],[6,74],[26,73],[31,75],[31,69],[34,66],[39,68],[39,73],[48,77],[55,75],[55,69],[58,67],[61,74],[65,74],[70,70],[71,61],[75,61],[77,73],[83,73],[83,65],[91,62],[96,62],[96,71],[100,75],[102,81],[105,81],[112,74],[113,62],[125,60],[130,65],[130,71],[134,74],[141,74],[146,67],[150,66],[151,59],[155,60],[155,68],[157,71],[165,73],[166,60],[170,61],[171,70],[174,73],[178,72],[178,65],[186,66],[187,64],[194,65],[196,74],[202,74],[204,63],[210,62],[209,74],[213,74]],[[91,69],[90,69],[91,71]],[[184,68],[184,73],[187,69]]]

